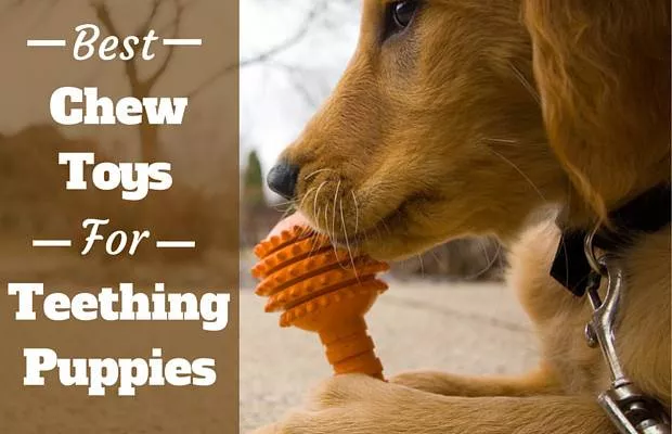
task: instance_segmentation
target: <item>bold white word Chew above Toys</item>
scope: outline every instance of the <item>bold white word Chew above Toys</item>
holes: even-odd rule
[[[62,87],[53,91],[49,111],[61,125],[181,125],[189,98],[124,97],[116,103],[98,88]],[[100,113],[99,113],[100,112]]]

